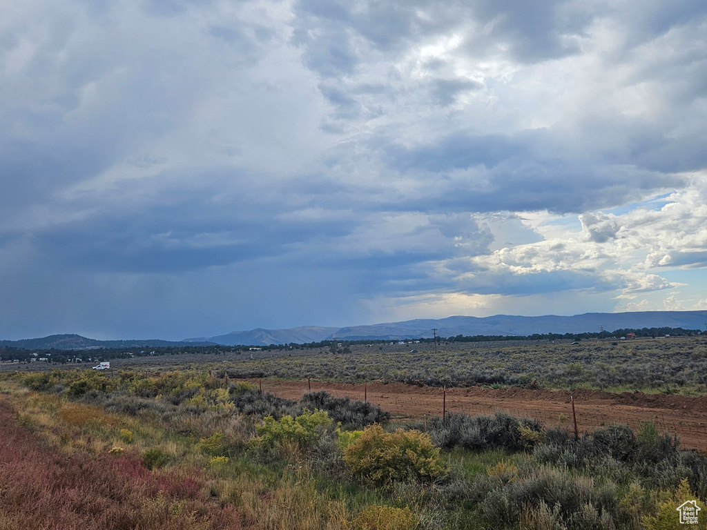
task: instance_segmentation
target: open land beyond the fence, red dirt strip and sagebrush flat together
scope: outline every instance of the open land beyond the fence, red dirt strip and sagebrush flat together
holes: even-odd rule
[[[416,348],[419,351],[411,353]],[[661,431],[677,432],[685,447],[707,452],[707,346],[701,337],[576,345],[443,342],[437,355],[432,344],[394,343],[353,345],[345,352],[281,348],[221,355],[177,353],[112,360],[111,372],[222,370],[232,379],[263,377],[265,390],[288,399],[307,391],[305,377],[312,378],[312,390],[352,399],[363,399],[363,383],[368,382],[368,400],[395,418],[439,416],[441,387],[446,385],[447,411],[470,415],[504,411],[550,427],[570,425],[572,392],[580,431],[610,423],[638,428],[653,420]],[[5,365],[4,370],[59,366],[76,367],[32,363]]]

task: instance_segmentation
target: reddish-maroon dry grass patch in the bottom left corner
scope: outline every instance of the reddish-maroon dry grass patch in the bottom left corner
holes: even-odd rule
[[[239,529],[237,512],[206,502],[198,476],[149,473],[133,457],[59,454],[0,404],[0,528]]]

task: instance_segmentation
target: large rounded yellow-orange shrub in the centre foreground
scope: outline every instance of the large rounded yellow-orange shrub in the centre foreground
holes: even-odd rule
[[[344,450],[344,461],[360,478],[375,484],[431,479],[442,476],[440,449],[419,430],[385,432],[371,425]]]

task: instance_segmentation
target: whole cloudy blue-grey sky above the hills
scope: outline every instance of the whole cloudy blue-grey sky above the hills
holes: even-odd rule
[[[0,1],[0,338],[707,309],[707,3]]]

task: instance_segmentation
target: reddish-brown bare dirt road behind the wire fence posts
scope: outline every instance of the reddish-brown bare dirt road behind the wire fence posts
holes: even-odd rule
[[[255,381],[257,384],[257,381]],[[264,391],[288,399],[299,399],[308,391],[305,381],[262,381]],[[312,391],[326,390],[334,396],[363,400],[363,384],[311,382]],[[441,416],[443,389],[391,383],[367,384],[368,401],[390,411],[393,418]],[[574,393],[580,432],[600,425],[624,423],[638,428],[641,422],[655,420],[660,431],[677,432],[682,447],[707,452],[707,396],[689,397],[641,392],[609,394],[595,390]],[[535,418],[547,427],[563,425],[572,429],[569,391],[521,388],[451,388],[446,391],[448,412],[470,415],[503,411],[513,416]]]

